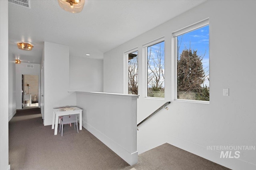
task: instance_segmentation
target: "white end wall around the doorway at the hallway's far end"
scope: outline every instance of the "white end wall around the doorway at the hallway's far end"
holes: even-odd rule
[[[39,94],[40,94],[40,87],[41,87],[41,66],[40,64],[32,64],[34,65],[34,68],[28,68],[27,64],[31,63],[20,63],[20,64],[15,64],[16,65],[16,109],[22,109],[22,74],[31,74],[31,75],[38,75],[38,89],[39,89]],[[25,89],[26,92],[28,92],[28,89]],[[31,96],[33,97],[33,96]],[[41,99],[38,98],[38,106],[40,106]],[[9,117],[9,119],[12,117]]]

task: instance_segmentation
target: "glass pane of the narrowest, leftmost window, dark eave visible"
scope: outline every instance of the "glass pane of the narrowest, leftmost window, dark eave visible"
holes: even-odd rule
[[[138,51],[128,54],[128,94],[138,94]]]

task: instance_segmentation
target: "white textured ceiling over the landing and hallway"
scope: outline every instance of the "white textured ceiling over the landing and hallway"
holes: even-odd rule
[[[205,0],[86,0],[69,13],[57,0],[30,0],[30,8],[8,3],[9,54],[41,63],[43,42],[70,47],[70,56],[103,59],[103,53],[137,37]],[[16,43],[32,43],[32,51]],[[90,54],[90,56],[86,56]]]

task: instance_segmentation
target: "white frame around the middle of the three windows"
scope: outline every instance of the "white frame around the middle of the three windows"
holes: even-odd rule
[[[148,96],[148,47],[152,45],[156,45],[158,43],[161,43],[164,41],[164,51],[165,51],[165,39],[164,36],[160,37],[158,39],[155,39],[153,41],[150,41],[144,45],[142,45],[142,51],[143,51],[143,57],[144,57],[144,66],[145,66],[145,79],[144,79],[144,87],[145,88],[145,98],[152,98],[152,99],[159,99],[159,100],[164,100],[165,99],[165,90],[164,90],[164,98],[158,98],[158,97],[150,97]],[[165,54],[164,54],[164,66],[165,66]]]

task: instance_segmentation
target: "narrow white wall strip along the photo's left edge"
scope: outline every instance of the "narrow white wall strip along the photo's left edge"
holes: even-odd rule
[[[0,1],[0,169],[7,170],[8,151],[8,1]]]

